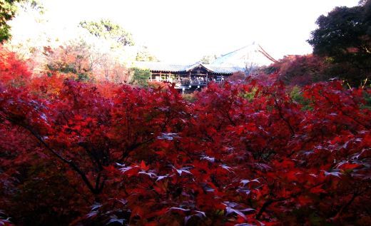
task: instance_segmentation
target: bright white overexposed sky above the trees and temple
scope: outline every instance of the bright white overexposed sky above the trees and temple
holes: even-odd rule
[[[311,53],[315,21],[335,6],[359,0],[44,0],[61,29],[111,19],[161,61],[190,63],[260,43],[274,58]]]

